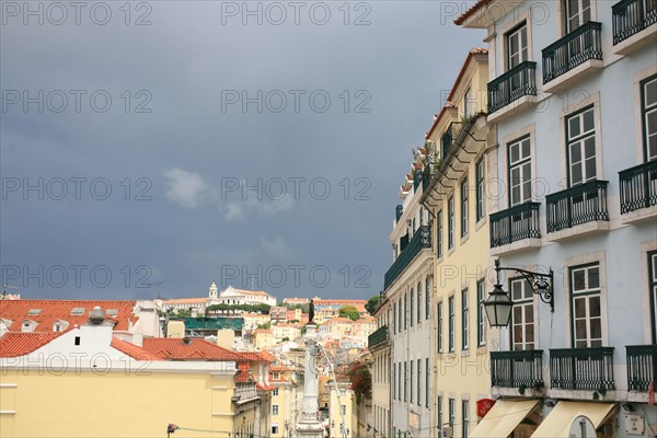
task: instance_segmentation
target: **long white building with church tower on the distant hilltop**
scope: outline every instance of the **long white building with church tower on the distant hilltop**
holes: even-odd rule
[[[212,281],[208,289],[207,298],[178,298],[162,301],[162,308],[164,310],[188,310],[198,313],[205,313],[206,308],[214,304],[276,306],[276,297],[263,290],[235,289],[232,286],[229,286],[219,292],[217,284]]]

